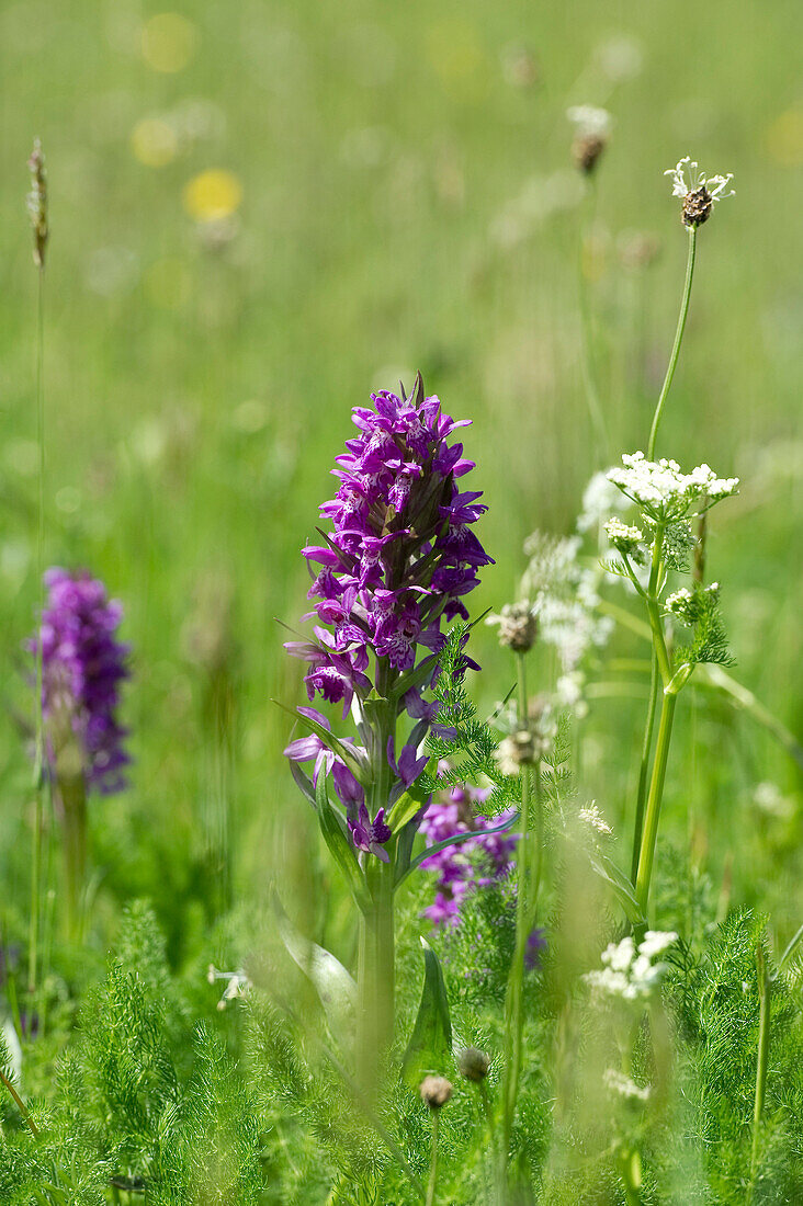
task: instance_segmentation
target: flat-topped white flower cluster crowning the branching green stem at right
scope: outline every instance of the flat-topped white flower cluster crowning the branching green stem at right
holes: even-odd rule
[[[708,510],[739,487],[738,478],[717,478],[708,464],[681,473],[676,461],[647,461],[644,452],[625,452],[622,467],[609,469],[607,478],[661,523]]]

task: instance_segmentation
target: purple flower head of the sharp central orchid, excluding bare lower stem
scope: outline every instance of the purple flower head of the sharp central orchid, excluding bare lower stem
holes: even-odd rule
[[[472,531],[485,510],[481,496],[458,484],[473,462],[462,444],[449,443],[467,422],[425,397],[420,374],[409,398],[383,391],[371,400],[354,408],[357,434],[332,470],[337,494],[320,508],[331,531],[319,529],[321,543],[303,550],[313,579],[314,609],[306,616],[316,621],[313,639],[286,644],[308,663],[310,703],[320,696],[342,704],[343,720],[351,712],[361,744],[344,753],[348,739],[320,714],[298,709],[308,727],[310,718],[319,727],[285,753],[293,762],[314,760],[316,780],[331,773],[355,847],[384,860],[391,837],[385,812],[427,761],[420,749],[437,718],[427,692],[444,642],[441,625],[467,619],[464,598],[491,558]],[[403,739],[400,718],[409,722]],[[314,798],[303,772],[293,775]]]

